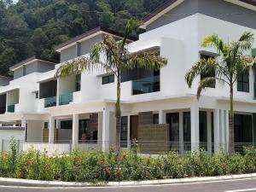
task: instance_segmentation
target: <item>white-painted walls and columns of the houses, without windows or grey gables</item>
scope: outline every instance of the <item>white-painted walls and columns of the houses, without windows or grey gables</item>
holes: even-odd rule
[[[201,53],[216,54],[214,49],[201,47],[201,41],[207,35],[216,33],[221,38],[224,38],[226,42],[231,42],[237,40],[246,31],[253,32],[256,38],[255,28],[219,20],[213,16],[195,14],[144,32],[136,42],[129,44],[131,52],[159,47],[160,55],[168,59],[168,64],[160,69],[160,91],[133,95],[132,80],[121,84],[122,115],[128,117],[127,147],[129,148],[131,139],[130,117],[132,115],[143,112],[158,113],[159,124],[170,124],[166,119],[166,114],[177,113],[178,138],[174,142],[179,143],[179,150],[183,152],[184,143],[186,142],[184,141],[186,136],[184,136],[183,113],[190,112],[189,148],[197,150],[200,147],[200,143],[206,143],[209,152],[212,152],[213,148],[214,151],[218,151],[219,148],[227,149],[230,108],[228,87],[217,82],[215,88],[207,89],[203,92],[201,99],[197,101],[196,90],[200,77],[195,80],[192,88],[189,89],[184,76],[190,67],[200,59]],[[87,39],[84,40],[84,44],[86,44],[86,41]],[[256,48],[256,41],[253,44],[253,48]],[[61,54],[67,54],[67,49],[63,48]],[[251,52],[247,54],[250,55]],[[89,53],[84,56],[88,55]],[[0,114],[0,121],[3,124],[19,122],[21,126],[26,126],[26,140],[28,142],[43,142],[43,131],[47,122],[49,143],[57,143],[57,141],[61,143],[62,140],[65,140],[66,143],[72,142],[73,146],[77,146],[79,143],[82,146],[83,141],[79,141],[82,137],[79,136],[81,124],[79,119],[88,119],[89,124],[93,124],[90,122],[90,115],[96,113],[97,142],[93,142],[92,135],[94,133],[84,133],[86,137],[90,135],[90,139],[87,140],[91,141],[91,143],[87,142],[87,147],[85,148],[108,150],[115,143],[115,82],[102,84],[102,76],[104,76],[102,70],[95,70],[92,73],[84,72],[81,74],[80,90],[76,91],[75,76],[61,79],[55,78],[56,70],[60,65],[55,65],[54,70],[45,73],[31,73],[19,79],[14,79],[10,81],[9,85],[0,87],[0,95],[7,94],[6,108],[15,104],[15,113]],[[40,96],[39,84],[53,79],[56,80],[56,106],[45,108],[45,98],[36,98],[35,92],[39,91]],[[254,138],[256,138],[254,137],[254,131],[256,129],[253,128],[253,113],[256,113],[256,100],[253,99],[254,83],[256,82],[254,82],[252,69],[249,73],[249,92],[237,91],[236,86],[234,87],[236,113],[252,116],[250,128],[252,139],[250,143],[256,142],[254,141]],[[14,92],[14,90],[16,91]],[[67,95],[72,97],[72,101],[69,104],[60,105],[62,99],[64,98],[65,100]],[[18,102],[16,102],[17,96]],[[206,142],[201,141],[200,111],[205,112],[207,115],[207,133],[203,133],[205,134],[204,137],[207,138]],[[72,130],[68,131],[68,129],[61,128],[61,121],[64,120],[72,120]],[[59,138],[55,138],[55,128],[59,129]],[[172,130],[172,127],[170,129]],[[204,140],[205,138],[202,139]],[[212,141],[213,139],[214,142]],[[171,140],[170,142],[172,143]],[[214,143],[214,147],[212,147],[212,143]],[[92,147],[90,148],[90,146]]]

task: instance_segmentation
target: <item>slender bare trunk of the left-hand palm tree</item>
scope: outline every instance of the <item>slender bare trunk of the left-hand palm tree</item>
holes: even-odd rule
[[[115,147],[117,149],[120,148],[120,130],[121,130],[121,108],[120,108],[120,96],[121,96],[121,88],[120,88],[120,71],[118,70],[118,77],[117,77],[117,101],[115,103],[115,118],[116,118],[116,140],[115,140]]]

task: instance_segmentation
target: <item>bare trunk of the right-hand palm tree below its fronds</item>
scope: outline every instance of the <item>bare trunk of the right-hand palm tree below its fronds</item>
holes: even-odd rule
[[[230,86],[229,154],[235,153],[233,86]]]

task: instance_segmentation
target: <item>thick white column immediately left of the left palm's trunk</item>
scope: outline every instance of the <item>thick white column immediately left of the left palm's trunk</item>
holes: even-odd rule
[[[109,110],[103,109],[102,113],[102,151],[109,150]]]

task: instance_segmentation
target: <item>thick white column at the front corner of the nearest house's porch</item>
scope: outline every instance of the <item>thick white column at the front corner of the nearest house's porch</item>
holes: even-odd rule
[[[191,111],[191,151],[197,152],[199,150],[199,107],[198,102],[192,103]]]

